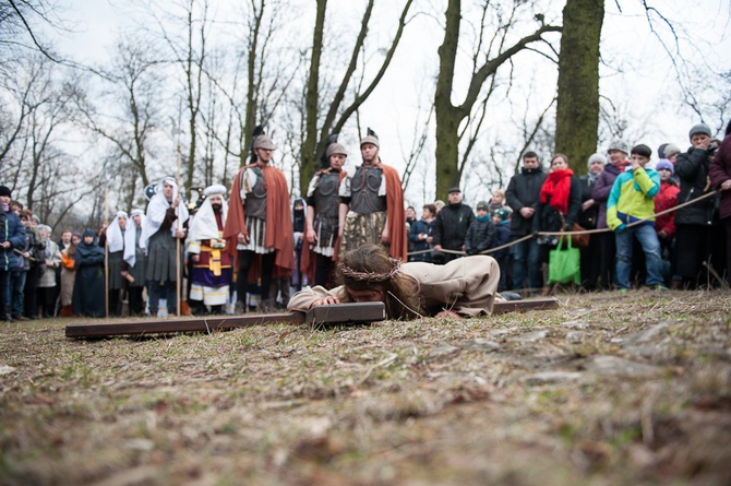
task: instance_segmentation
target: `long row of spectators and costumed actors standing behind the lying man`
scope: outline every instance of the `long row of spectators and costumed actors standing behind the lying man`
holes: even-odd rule
[[[404,210],[398,174],[369,129],[353,175],[331,140],[308,194],[290,204],[276,146],[256,133],[251,164],[185,204],[175,178],[146,194],[145,210],[119,211],[101,228],[63,229],[60,239],[0,186],[0,320],[53,316],[164,316],[272,311],[308,284],[337,285],[339,253],[382,245],[391,258],[446,264],[489,254],[499,292],[549,292],[549,252],[562,233],[588,233],[579,288],[626,292],[728,285],[731,272],[731,123],[723,140],[705,123],[690,147],[652,150],[613,141],[576,177],[555,154],[528,151],[505,190],[475,211],[458,187],[447,202]],[[655,217],[655,215],[658,215]],[[517,298],[514,297],[514,298]],[[178,301],[182,298],[182,305]],[[185,308],[185,309],[183,309]]]

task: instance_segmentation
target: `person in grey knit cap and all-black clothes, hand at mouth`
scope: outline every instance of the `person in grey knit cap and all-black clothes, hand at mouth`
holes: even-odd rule
[[[691,147],[678,155],[675,175],[680,178],[678,204],[700,198],[712,191],[708,182],[710,155],[716,151],[710,128],[698,123],[688,133]],[[716,197],[681,208],[675,213],[675,271],[684,285],[696,286],[707,282],[704,262],[723,268],[724,235],[716,214]],[[712,276],[711,276],[712,280]]]

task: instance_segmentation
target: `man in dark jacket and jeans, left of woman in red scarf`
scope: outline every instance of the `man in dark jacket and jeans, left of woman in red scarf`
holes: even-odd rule
[[[511,220],[511,237],[513,240],[530,235],[532,218],[538,203],[541,186],[547,174],[540,167],[538,155],[526,152],[523,155],[523,169],[511,178],[505,197],[507,205],[513,210]],[[530,287],[543,287],[543,276],[540,268],[540,251],[536,238],[522,241],[512,247],[513,251],[513,289],[523,289],[526,273]],[[538,291],[534,291],[538,292]]]

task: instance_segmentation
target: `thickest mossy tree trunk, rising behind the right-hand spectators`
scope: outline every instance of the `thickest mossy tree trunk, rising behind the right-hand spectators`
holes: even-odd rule
[[[599,39],[603,0],[568,0],[563,9],[559,58],[555,151],[577,174],[597,151],[599,130]]]

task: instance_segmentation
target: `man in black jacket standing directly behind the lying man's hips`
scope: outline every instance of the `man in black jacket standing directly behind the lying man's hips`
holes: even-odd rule
[[[434,220],[434,251],[451,250],[442,256],[442,263],[447,263],[462,257],[452,251],[465,251],[465,237],[469,225],[475,221],[475,213],[467,204],[462,203],[462,191],[454,187],[450,189],[450,203],[439,212]]]

